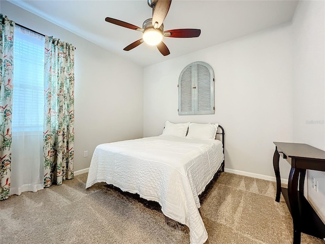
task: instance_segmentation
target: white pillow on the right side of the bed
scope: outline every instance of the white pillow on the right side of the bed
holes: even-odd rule
[[[218,124],[196,124],[190,123],[188,126],[188,133],[186,138],[215,140],[218,129]]]

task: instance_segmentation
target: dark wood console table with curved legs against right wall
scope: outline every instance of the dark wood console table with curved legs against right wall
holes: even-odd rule
[[[300,244],[302,232],[325,240],[325,224],[304,197],[306,169],[325,171],[325,151],[307,144],[273,143],[275,144],[273,155],[273,167],[276,177],[275,201],[280,201],[282,193],[293,217],[293,243]],[[291,165],[287,189],[281,188],[280,155]]]

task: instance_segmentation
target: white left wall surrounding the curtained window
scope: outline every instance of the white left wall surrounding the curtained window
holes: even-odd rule
[[[77,48],[75,171],[89,167],[96,145],[143,136],[142,67],[7,1],[0,4],[1,13],[9,19]],[[88,150],[87,158],[83,158],[85,150]]]

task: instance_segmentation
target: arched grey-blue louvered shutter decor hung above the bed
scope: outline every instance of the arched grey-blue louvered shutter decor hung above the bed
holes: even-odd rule
[[[178,79],[178,114],[214,113],[214,73],[210,65],[194,62]]]

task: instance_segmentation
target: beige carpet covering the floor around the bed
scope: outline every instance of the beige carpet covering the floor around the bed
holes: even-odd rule
[[[86,178],[0,202],[0,243],[189,243],[159,205],[104,183],[85,189]],[[290,213],[274,197],[274,182],[221,173],[201,198],[206,243],[292,243]],[[301,243],[325,241],[302,234]]]

